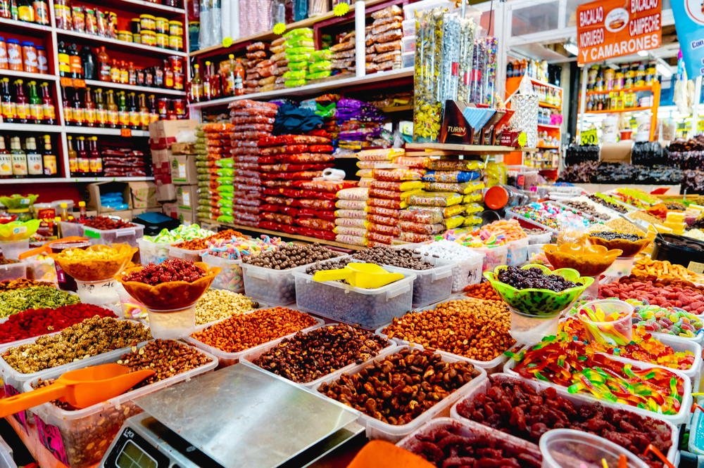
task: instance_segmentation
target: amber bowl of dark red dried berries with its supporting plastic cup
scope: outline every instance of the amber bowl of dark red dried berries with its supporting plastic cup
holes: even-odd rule
[[[201,262],[168,259],[158,265],[127,268],[115,280],[149,311],[153,337],[175,339],[196,327],[195,304],[218,273],[220,268]]]

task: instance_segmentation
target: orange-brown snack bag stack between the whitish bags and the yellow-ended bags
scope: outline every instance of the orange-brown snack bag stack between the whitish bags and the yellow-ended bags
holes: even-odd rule
[[[417,169],[372,169],[367,200],[367,245],[390,245],[401,235],[399,216],[408,198],[422,192],[422,171]]]

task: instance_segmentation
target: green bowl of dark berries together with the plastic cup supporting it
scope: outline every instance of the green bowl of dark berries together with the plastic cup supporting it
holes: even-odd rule
[[[520,343],[539,342],[558,330],[560,313],[584,293],[593,278],[577,270],[542,265],[498,266],[484,272],[511,311],[511,334]]]

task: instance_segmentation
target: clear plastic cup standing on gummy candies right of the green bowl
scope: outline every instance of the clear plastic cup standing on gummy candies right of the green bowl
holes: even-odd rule
[[[594,321],[590,320],[586,313],[579,313],[581,309],[598,309],[603,311],[605,316],[618,314],[617,320]],[[624,346],[633,339],[633,306],[626,301],[618,299],[597,299],[582,305],[576,316],[586,332],[586,336],[597,343]]]

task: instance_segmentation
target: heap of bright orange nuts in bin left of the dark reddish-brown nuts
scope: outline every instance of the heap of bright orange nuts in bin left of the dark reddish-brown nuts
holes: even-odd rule
[[[222,320],[191,334],[191,337],[226,353],[238,353],[312,327],[315,323],[307,313],[290,308],[263,308]]]

